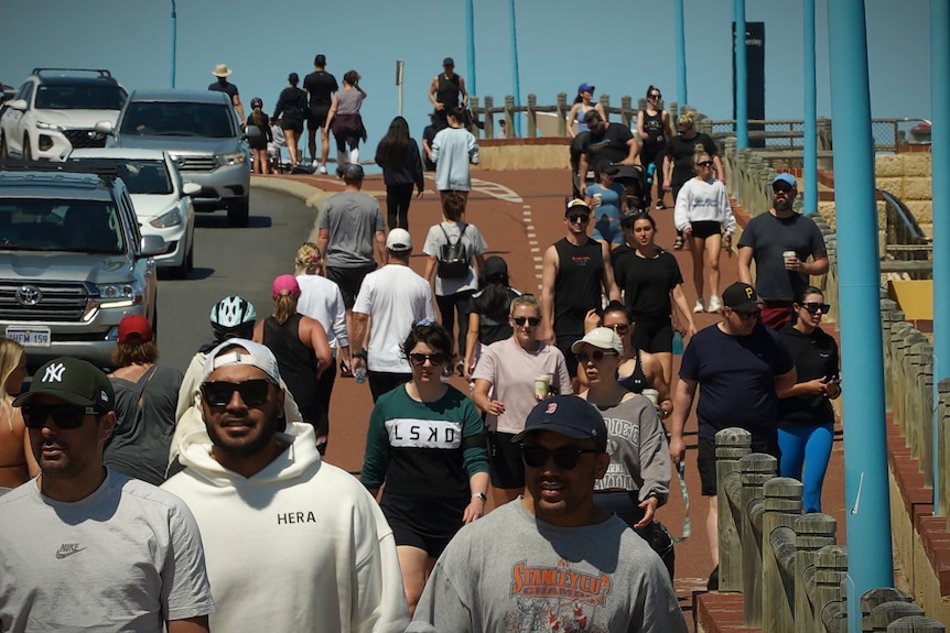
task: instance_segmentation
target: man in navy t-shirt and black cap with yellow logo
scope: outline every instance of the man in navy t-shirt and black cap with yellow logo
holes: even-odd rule
[[[683,427],[697,388],[698,466],[702,494],[710,498],[706,534],[716,564],[710,589],[719,587],[719,512],[716,506],[715,434],[741,427],[752,434],[752,451],[778,458],[778,394],[796,382],[795,360],[778,334],[759,323],[755,288],[735,282],[722,293],[723,320],[698,331],[683,352],[680,380],[673,389],[670,456],[679,466],[685,456]]]

